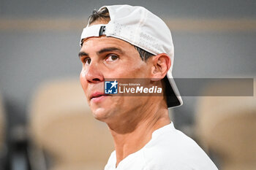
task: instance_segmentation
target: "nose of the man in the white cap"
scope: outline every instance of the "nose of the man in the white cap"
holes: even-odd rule
[[[86,80],[91,83],[98,83],[104,80],[101,69],[97,63],[91,63],[86,72]]]

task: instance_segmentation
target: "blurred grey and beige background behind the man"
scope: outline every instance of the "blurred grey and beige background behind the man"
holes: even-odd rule
[[[93,9],[146,7],[165,20],[175,46],[173,76],[256,75],[254,0],[0,0],[0,169],[103,169],[113,142],[93,119],[78,79],[79,40]],[[230,88],[211,85],[198,93]],[[256,169],[256,101],[183,96],[170,109],[219,169]]]

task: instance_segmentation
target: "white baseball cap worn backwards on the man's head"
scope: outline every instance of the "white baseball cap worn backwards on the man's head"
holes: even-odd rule
[[[172,75],[173,39],[165,22],[144,7],[132,7],[130,5],[104,7],[108,9],[110,14],[109,23],[93,26],[89,26],[88,23],[86,28],[83,28],[80,45],[83,44],[83,39],[105,35],[122,39],[154,55],[166,53],[171,61],[167,78],[165,77],[167,107],[181,106],[183,101]]]

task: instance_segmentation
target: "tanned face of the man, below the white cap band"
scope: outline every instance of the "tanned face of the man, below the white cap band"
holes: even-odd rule
[[[146,97],[106,96],[103,90],[106,78],[150,77],[151,63],[142,61],[133,45],[113,37],[91,37],[83,42],[79,55],[80,83],[95,118],[115,121],[114,117],[122,119],[128,116],[125,112],[143,106]]]

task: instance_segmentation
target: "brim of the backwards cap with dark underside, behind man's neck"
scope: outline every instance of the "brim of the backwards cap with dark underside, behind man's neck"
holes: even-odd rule
[[[173,79],[173,75],[170,70],[167,72],[167,75],[164,78],[165,80],[165,95],[167,99],[167,107],[180,107],[183,104],[178,88]]]

